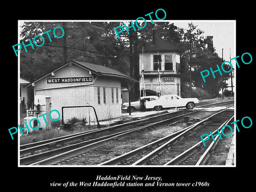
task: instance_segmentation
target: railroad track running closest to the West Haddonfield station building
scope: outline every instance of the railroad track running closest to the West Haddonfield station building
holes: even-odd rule
[[[225,101],[218,103],[234,102]],[[211,105],[216,105],[212,103]],[[204,105],[210,106],[210,105]],[[200,106],[203,107],[203,106]],[[147,129],[148,127],[155,126],[167,121],[181,118],[184,115],[196,113],[199,110],[189,111],[180,110],[175,113],[161,114],[154,117],[139,119],[134,122],[104,127],[97,130],[91,130],[83,133],[67,135],[65,137],[54,138],[46,141],[30,143],[28,145],[20,146],[20,164],[21,165],[46,165],[60,161],[63,158],[84,153],[84,151],[92,150],[94,148],[108,145],[113,139],[120,139],[129,134]],[[181,115],[178,115],[181,114]],[[175,116],[177,115],[177,116]],[[169,118],[167,118],[169,116]],[[172,116],[172,117],[170,117]],[[175,117],[173,117],[175,116]],[[155,122],[156,119],[161,121]],[[143,125],[147,123],[147,125]],[[137,125],[139,127],[135,127]],[[141,126],[142,125],[142,126]],[[133,128],[132,128],[133,127]],[[102,134],[105,134],[102,136]],[[100,137],[99,137],[100,135]]]

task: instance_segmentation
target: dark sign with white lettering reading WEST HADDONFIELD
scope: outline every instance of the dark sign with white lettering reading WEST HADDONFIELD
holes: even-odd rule
[[[47,78],[47,83],[83,83],[93,82],[93,77],[58,77],[58,78]]]

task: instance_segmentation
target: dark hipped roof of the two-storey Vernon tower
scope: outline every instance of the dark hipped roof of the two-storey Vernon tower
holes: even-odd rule
[[[141,51],[142,52],[142,49]],[[174,46],[170,42],[162,38],[155,38],[154,41],[146,43],[143,46],[144,53],[152,53],[152,52],[177,52],[181,53],[182,51],[178,49],[178,47]]]

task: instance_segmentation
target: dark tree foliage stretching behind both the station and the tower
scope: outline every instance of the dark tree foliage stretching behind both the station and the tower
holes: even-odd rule
[[[46,34],[44,45],[34,50],[27,46],[20,51],[20,76],[30,82],[50,73],[55,68],[63,65],[70,59],[91,62],[98,65],[114,68],[126,75],[138,78],[138,52],[143,44],[151,41],[153,30],[158,38],[177,46],[181,51],[181,87],[198,87],[211,93],[215,97],[221,87],[227,86],[225,79],[229,74],[215,73],[216,78],[207,78],[206,83],[200,71],[216,69],[221,66],[222,60],[215,53],[214,47],[206,46],[207,39],[204,31],[198,29],[193,23],[188,23],[188,28],[178,28],[170,22],[148,23],[145,28],[132,31],[130,34],[122,33],[117,38],[114,28],[123,26],[123,22],[24,22],[21,26],[21,42],[29,44],[28,39],[36,35],[43,35],[49,31],[50,39]],[[144,26],[144,23],[140,23]],[[57,26],[65,30],[62,38],[53,35]],[[60,34],[61,30],[55,30]],[[41,38],[35,39],[38,45],[42,44]]]

